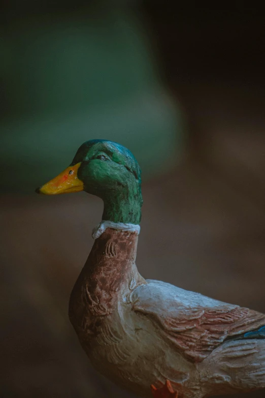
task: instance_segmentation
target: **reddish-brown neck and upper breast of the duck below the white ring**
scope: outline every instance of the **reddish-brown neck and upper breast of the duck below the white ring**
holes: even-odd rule
[[[146,283],[135,264],[137,242],[137,233],[113,228],[95,239],[69,303],[69,316],[79,334],[97,333],[122,298]]]

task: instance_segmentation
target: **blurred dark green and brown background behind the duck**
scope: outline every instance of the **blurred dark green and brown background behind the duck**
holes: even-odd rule
[[[265,312],[263,13],[11,0],[0,30],[1,397],[132,398],[93,370],[67,314],[103,204],[34,190],[86,140],[127,146],[143,276]]]

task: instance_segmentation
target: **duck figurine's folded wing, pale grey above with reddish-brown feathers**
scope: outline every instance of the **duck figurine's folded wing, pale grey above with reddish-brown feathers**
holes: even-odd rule
[[[265,325],[264,314],[160,281],[138,286],[130,302],[192,362],[201,362],[225,340]]]

